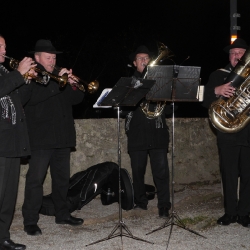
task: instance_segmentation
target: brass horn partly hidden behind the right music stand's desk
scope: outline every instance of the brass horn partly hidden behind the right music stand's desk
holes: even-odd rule
[[[173,52],[163,43],[158,43],[158,45],[159,45],[159,48],[158,48],[159,55],[157,56],[155,60],[149,62],[148,64],[149,66],[157,65],[158,63],[162,62],[164,59],[174,56]],[[147,77],[147,72],[145,73],[144,78],[146,77]],[[148,119],[154,119],[162,114],[165,108],[166,102],[157,102],[154,111],[149,111],[149,104],[150,104],[150,101],[142,102],[140,105],[140,108]]]

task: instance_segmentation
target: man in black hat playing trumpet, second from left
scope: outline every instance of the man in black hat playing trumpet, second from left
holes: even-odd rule
[[[25,197],[22,207],[24,231],[39,235],[37,223],[43,200],[43,182],[48,166],[52,178],[52,200],[57,224],[81,225],[83,220],[70,215],[67,192],[70,178],[70,151],[76,146],[76,132],[72,106],[83,100],[84,94],[73,86],[72,70],[56,72],[57,51],[49,40],[38,40],[34,58],[37,68],[49,72],[47,84],[31,83],[32,94],[25,105],[31,144],[31,157],[26,175]],[[60,87],[53,76],[68,75],[68,83]],[[72,86],[71,86],[72,85]]]

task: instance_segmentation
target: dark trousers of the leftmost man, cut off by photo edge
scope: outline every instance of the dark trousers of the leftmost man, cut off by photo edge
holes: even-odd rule
[[[0,157],[0,243],[10,239],[19,173],[20,158]]]

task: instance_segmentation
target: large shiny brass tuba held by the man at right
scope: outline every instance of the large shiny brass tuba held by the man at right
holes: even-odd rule
[[[209,107],[213,126],[224,133],[236,133],[250,121],[250,47],[238,61],[225,83],[230,82],[236,91],[233,96],[221,96]]]

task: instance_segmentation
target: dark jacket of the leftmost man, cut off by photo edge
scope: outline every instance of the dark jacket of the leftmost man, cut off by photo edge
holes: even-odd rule
[[[0,157],[30,155],[29,137],[23,104],[29,86],[14,70],[0,69]]]

